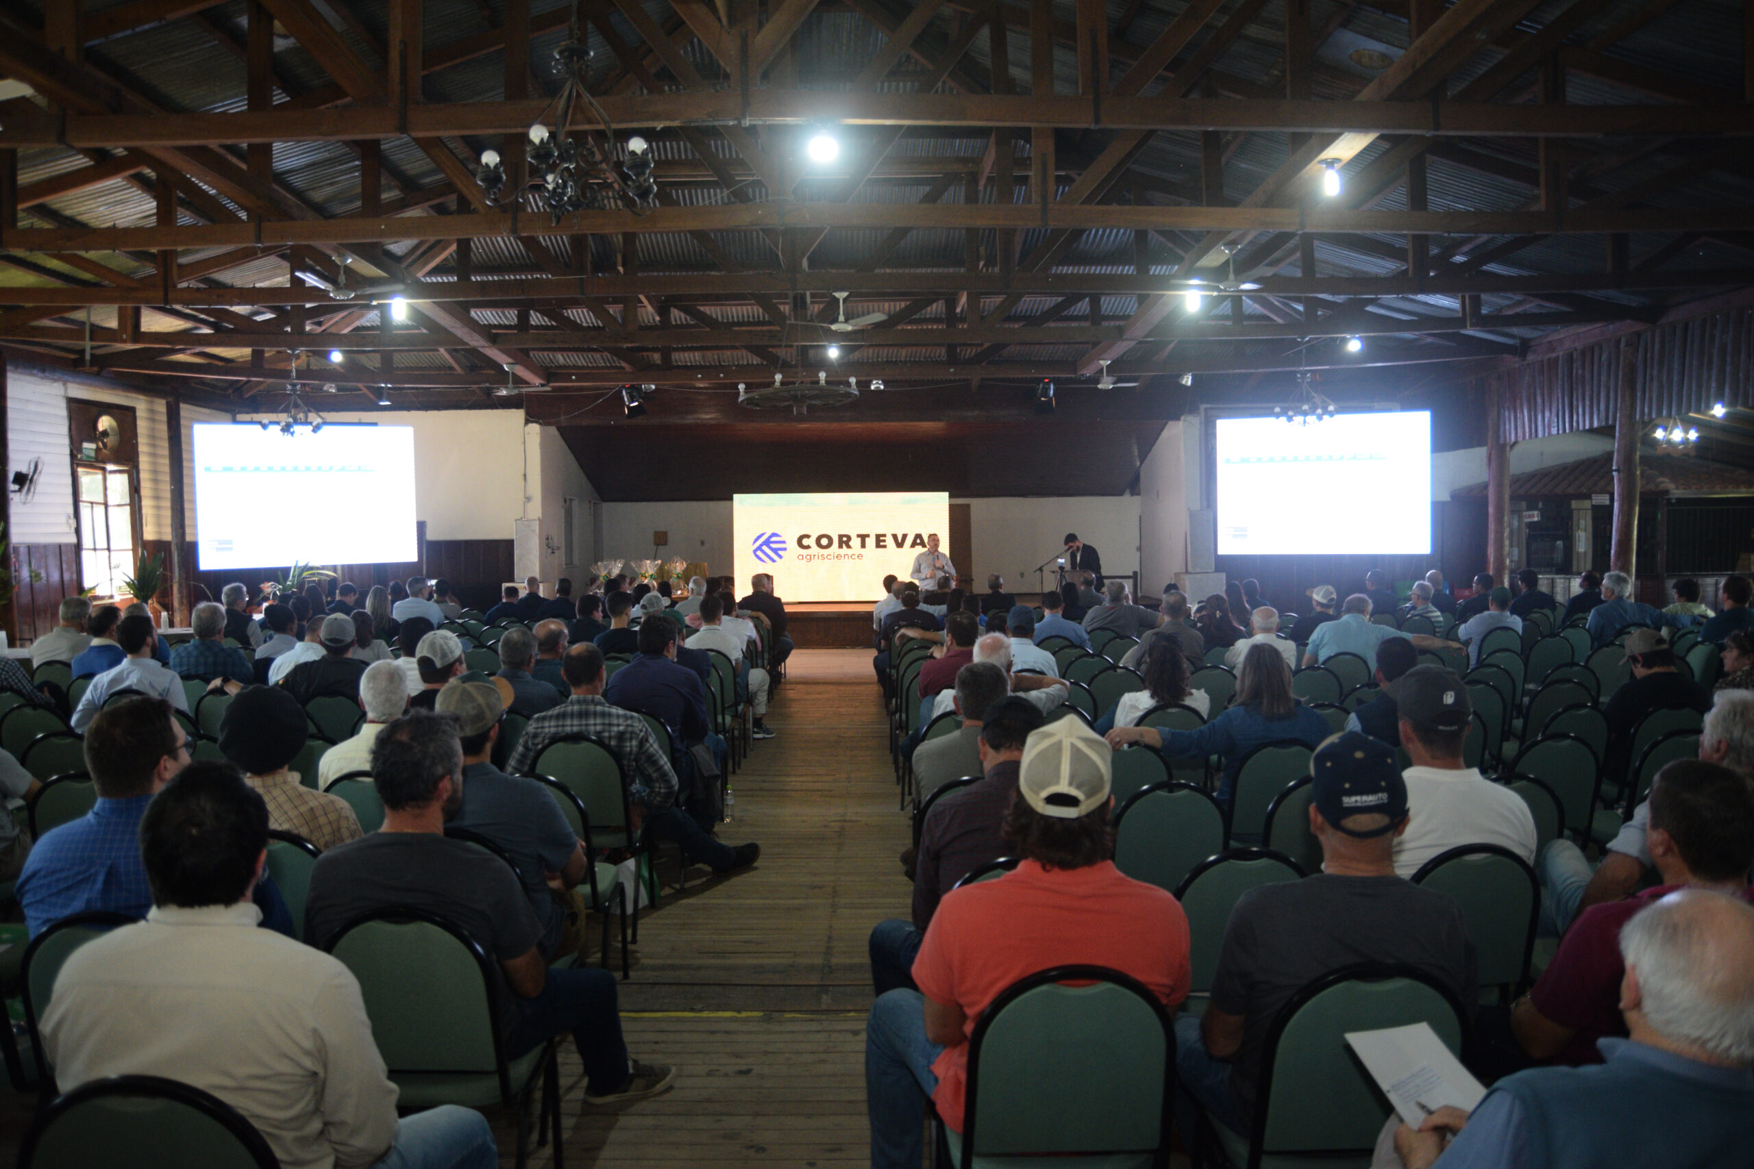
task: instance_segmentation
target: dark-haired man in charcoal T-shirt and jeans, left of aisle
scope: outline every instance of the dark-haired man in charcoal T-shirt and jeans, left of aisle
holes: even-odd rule
[[[435,913],[493,959],[496,981],[509,992],[495,995],[507,1059],[572,1032],[588,1104],[667,1092],[675,1078],[672,1067],[628,1057],[616,976],[589,967],[549,969],[538,945],[542,924],[517,876],[498,857],[446,838],[446,818],[456,815],[468,785],[456,724],[419,710],[402,715],[377,736],[372,778],[384,799],[384,827],[317,857],[305,938],[328,946],[349,922],[372,911]]]

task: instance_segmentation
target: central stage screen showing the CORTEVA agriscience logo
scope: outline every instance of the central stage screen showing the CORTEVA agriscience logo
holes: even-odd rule
[[[738,587],[774,575],[789,601],[875,601],[888,573],[907,577],[926,538],[949,554],[951,496],[942,491],[731,496]]]

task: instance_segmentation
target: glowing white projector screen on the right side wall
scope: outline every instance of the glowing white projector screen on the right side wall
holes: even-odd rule
[[[1431,414],[1217,421],[1221,556],[1431,552]]]

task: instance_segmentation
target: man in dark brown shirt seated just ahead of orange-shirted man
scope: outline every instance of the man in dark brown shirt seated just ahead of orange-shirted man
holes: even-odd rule
[[[872,929],[872,985],[877,994],[896,987],[916,988],[914,957],[938,901],[956,887],[956,882],[1005,855],[1003,824],[1005,811],[1017,794],[1017,764],[1023,761],[1030,733],[1040,729],[1044,722],[1042,712],[1021,698],[1003,698],[995,703],[980,724],[977,740],[980,768],[970,773],[982,780],[944,794],[926,810],[919,829],[919,848],[909,850],[916,854],[910,861],[914,917],[879,922]]]

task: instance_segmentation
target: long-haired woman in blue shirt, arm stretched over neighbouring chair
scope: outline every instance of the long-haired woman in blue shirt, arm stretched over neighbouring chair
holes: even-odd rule
[[[1224,778],[1217,799],[1230,804],[1237,771],[1251,750],[1263,743],[1294,741],[1314,750],[1328,738],[1328,720],[1298,701],[1291,692],[1291,666],[1272,645],[1254,645],[1237,673],[1237,696],[1230,708],[1198,731],[1158,731],[1156,727],[1116,727],[1110,747],[1144,743],[1161,750],[1165,759],[1224,757]]]

